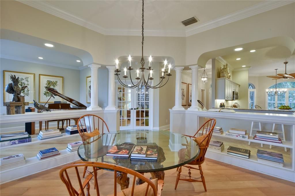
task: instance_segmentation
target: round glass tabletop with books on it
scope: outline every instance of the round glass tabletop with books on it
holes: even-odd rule
[[[130,157],[106,156],[115,144],[158,146],[158,160],[137,160]],[[180,150],[183,149],[183,150]],[[159,172],[185,165],[199,155],[197,143],[190,137],[170,131],[131,129],[117,133],[106,133],[91,137],[78,148],[78,156],[83,161],[105,162],[140,173]],[[182,157],[181,160],[179,157]]]

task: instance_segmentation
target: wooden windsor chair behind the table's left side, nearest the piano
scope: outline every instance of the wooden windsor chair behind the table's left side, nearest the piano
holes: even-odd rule
[[[85,132],[91,133],[95,129],[98,129],[100,134],[104,134],[105,129],[107,130],[107,132],[110,132],[109,127],[104,119],[94,114],[85,114],[81,116],[77,121],[77,128],[83,142],[86,141],[86,139],[83,137],[83,133]],[[97,168],[96,170],[99,170],[99,168]],[[87,170],[87,166],[85,166],[84,168],[83,177],[85,177],[86,172],[89,174],[92,173]]]

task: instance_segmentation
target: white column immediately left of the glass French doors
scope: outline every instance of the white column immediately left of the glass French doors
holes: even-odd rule
[[[109,104],[106,110],[115,110],[115,66],[106,66],[109,70]]]

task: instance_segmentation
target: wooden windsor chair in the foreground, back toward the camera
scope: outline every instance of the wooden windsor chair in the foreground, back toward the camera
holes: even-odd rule
[[[91,174],[87,175],[85,180],[82,182],[80,174],[79,174],[79,170],[78,170],[79,167],[93,167],[93,170],[94,170],[93,175],[91,175]],[[90,183],[89,182],[92,177],[94,177],[94,181],[95,181],[94,186],[96,189],[96,195],[100,195],[99,183],[97,180],[97,170],[95,169],[97,167],[114,171],[114,196],[117,196],[117,195],[160,196],[161,195],[161,191],[162,191],[162,188],[164,185],[163,180],[158,180],[158,179],[149,180],[144,175],[142,175],[138,172],[135,172],[131,169],[117,166],[117,165],[108,164],[108,163],[75,162],[75,163],[71,163],[69,165],[64,166],[63,168],[61,168],[61,170],[59,172],[60,179],[67,187],[67,190],[68,190],[68,193],[70,196],[78,196],[78,195],[79,196],[85,196],[85,195],[88,196],[88,195],[90,195]],[[76,173],[78,183],[76,181],[73,181],[74,180],[73,177],[75,175],[73,175],[71,173],[71,171]],[[123,189],[123,190],[117,192],[117,181],[120,180],[119,177],[120,177],[121,172],[123,172],[126,175],[129,174],[129,175],[133,176],[133,182],[132,182],[131,188]],[[136,178],[138,178],[146,183],[144,183],[142,185],[135,186]],[[128,180],[129,180],[129,178],[128,178]],[[86,187],[86,193],[85,193],[85,187]]]

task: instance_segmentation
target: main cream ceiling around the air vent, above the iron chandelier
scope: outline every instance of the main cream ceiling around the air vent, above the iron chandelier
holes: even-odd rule
[[[140,35],[142,2],[137,1],[20,1],[106,35]],[[189,36],[292,1],[145,1],[145,35]],[[183,26],[196,16],[199,21]]]

